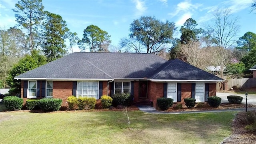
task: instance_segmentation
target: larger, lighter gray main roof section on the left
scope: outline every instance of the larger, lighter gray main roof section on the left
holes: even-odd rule
[[[145,78],[164,62],[155,54],[74,52],[16,78]]]

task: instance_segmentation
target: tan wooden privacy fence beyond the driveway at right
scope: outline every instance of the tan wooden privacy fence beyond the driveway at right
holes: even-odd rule
[[[243,88],[256,87],[256,78],[237,78],[225,80],[225,90],[229,90],[232,86],[242,86]],[[216,84],[217,90],[220,90],[219,84]]]

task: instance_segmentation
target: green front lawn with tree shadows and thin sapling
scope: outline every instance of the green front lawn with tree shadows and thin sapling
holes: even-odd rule
[[[234,112],[147,114],[130,112],[0,112],[0,143],[218,144],[231,134]]]

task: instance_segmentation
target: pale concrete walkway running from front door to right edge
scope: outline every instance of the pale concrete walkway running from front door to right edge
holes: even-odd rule
[[[202,111],[185,111],[185,112],[162,112],[157,111],[154,107],[151,106],[137,106],[140,111],[148,112],[152,114],[195,114],[195,113],[208,113],[208,112],[240,112],[245,111],[245,108],[232,108],[225,110],[202,110]],[[248,108],[249,110],[256,110],[256,108]]]

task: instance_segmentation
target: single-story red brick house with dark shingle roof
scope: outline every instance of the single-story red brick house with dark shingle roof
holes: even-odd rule
[[[164,60],[155,54],[74,52],[16,76],[21,80],[21,97],[94,97],[130,92],[134,103],[172,98],[206,102],[216,95],[216,82],[223,81],[181,60]]]

